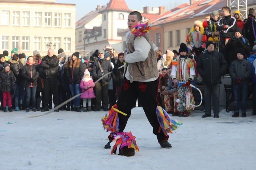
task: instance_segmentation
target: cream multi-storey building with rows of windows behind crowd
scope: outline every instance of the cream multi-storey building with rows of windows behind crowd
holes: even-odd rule
[[[10,55],[15,47],[18,48],[19,53],[24,52],[27,56],[33,55],[34,50],[46,55],[48,50],[46,44],[49,42],[52,43],[51,48],[56,45],[55,54],[59,48],[65,52],[75,51],[75,4],[23,1],[0,2],[0,6],[1,53],[7,50]],[[51,17],[47,19],[45,15]],[[28,21],[28,24],[24,25],[24,20]],[[16,40],[18,45],[14,43],[13,38],[18,38]]]

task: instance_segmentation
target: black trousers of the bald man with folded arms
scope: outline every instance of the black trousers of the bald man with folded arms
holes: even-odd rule
[[[59,92],[57,78],[44,79],[44,107],[50,104],[50,96],[53,95],[54,107],[59,104]]]

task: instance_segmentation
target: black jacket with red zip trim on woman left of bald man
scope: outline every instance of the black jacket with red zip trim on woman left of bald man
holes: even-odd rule
[[[22,68],[22,77],[27,81],[27,87],[37,86],[39,72],[36,69],[36,66],[34,64],[30,65],[28,62],[26,62],[26,65]],[[30,78],[33,80],[30,81]]]

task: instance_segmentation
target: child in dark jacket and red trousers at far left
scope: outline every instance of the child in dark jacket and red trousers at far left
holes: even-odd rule
[[[8,110],[12,112],[12,95],[14,95],[15,77],[8,63],[4,63],[3,68],[4,71],[0,75],[0,89],[3,92],[3,112],[6,112],[7,100]]]

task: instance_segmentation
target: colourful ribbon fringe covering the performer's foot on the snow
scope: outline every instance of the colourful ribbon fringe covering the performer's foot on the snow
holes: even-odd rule
[[[121,132],[114,136],[114,140],[110,143],[111,145],[111,154],[116,150],[116,155],[119,153],[119,148],[127,146],[128,148],[134,148],[136,152],[139,151],[139,148],[136,144],[135,136],[132,136],[131,132]]]

